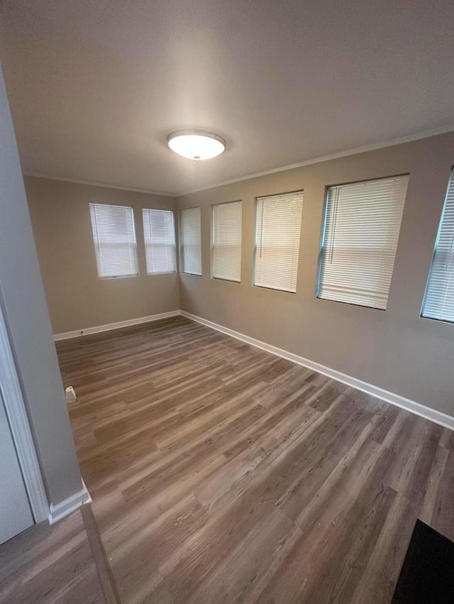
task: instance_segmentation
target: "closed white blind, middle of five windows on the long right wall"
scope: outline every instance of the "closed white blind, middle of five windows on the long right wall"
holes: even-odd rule
[[[297,291],[303,192],[258,197],[254,285]]]

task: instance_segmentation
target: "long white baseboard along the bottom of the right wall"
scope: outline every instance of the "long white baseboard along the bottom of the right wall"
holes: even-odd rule
[[[362,392],[367,392],[367,394],[385,400],[386,402],[390,402],[392,405],[401,407],[406,411],[419,415],[420,417],[424,417],[425,419],[429,419],[431,422],[435,422],[436,424],[440,424],[445,428],[454,430],[454,417],[451,417],[450,415],[441,411],[431,409],[431,407],[426,407],[426,405],[421,405],[420,402],[410,400],[401,395],[394,394],[394,392],[389,392],[388,390],[383,390],[382,388],[378,388],[378,386],[363,382],[362,380],[358,380],[358,378],[353,378],[351,375],[341,373],[341,371],[336,371],[335,369],[331,369],[321,365],[320,363],[309,361],[308,358],[298,356],[297,354],[285,351],[282,348],[277,348],[277,346],[272,346],[271,344],[266,344],[265,342],[256,340],[250,336],[245,336],[245,334],[240,334],[239,331],[233,331],[233,329],[228,329],[228,327],[218,325],[217,323],[208,321],[207,319],[196,317],[195,314],[191,314],[184,310],[181,311],[181,314],[183,317],[187,317],[187,319],[192,319],[197,323],[201,323],[202,325],[206,325],[212,329],[217,329],[217,331],[222,331],[223,334],[227,334],[228,336],[232,336],[233,338],[246,342],[246,344],[251,344],[251,346],[262,348],[264,351],[270,352],[282,358],[286,358],[287,361],[298,363],[298,365],[318,371],[319,373],[323,373],[323,375],[328,375],[328,377],[333,378],[333,380],[338,380],[338,382],[343,382],[344,384],[353,386],[353,388],[362,390]]]

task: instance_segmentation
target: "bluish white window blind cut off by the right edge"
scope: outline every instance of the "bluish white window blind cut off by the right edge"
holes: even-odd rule
[[[422,316],[454,322],[454,171],[438,229]]]

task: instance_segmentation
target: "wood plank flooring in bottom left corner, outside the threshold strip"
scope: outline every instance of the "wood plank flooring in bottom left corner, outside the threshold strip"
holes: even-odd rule
[[[110,579],[99,574],[106,563],[87,525],[91,519],[84,506],[52,527],[41,522],[2,544],[0,602],[119,604]]]

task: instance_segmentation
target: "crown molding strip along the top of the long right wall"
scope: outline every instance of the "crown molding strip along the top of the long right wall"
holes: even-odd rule
[[[240,176],[238,178],[232,178],[231,180],[223,180],[216,182],[208,187],[201,187],[200,189],[194,189],[182,193],[177,193],[175,197],[184,197],[185,195],[192,195],[193,193],[199,193],[201,191],[207,191],[209,189],[216,189],[216,187],[224,187],[225,185],[233,185],[235,182],[241,182],[243,180],[250,180],[252,178],[259,178],[261,176],[268,176],[270,174],[277,174],[277,172],[285,172],[286,170],[294,170],[295,168],[304,168],[306,165],[312,165],[316,163],[327,162],[330,160],[337,160],[339,158],[345,158],[349,155],[357,155],[358,153],[366,153],[367,151],[375,151],[377,149],[383,149],[385,147],[393,147],[394,145],[402,145],[403,143],[411,143],[413,141],[420,141],[423,138],[429,138],[430,136],[438,136],[438,134],[446,134],[454,131],[454,123],[449,126],[443,126],[441,128],[435,128],[434,130],[428,130],[419,132],[417,134],[411,134],[409,136],[403,136],[402,138],[395,138],[392,141],[385,141],[383,143],[373,143],[371,145],[364,145],[362,147],[356,147],[354,149],[348,149],[346,151],[339,151],[338,153],[331,153],[330,155],[321,155],[318,158],[311,160],[305,160],[304,162],[293,163],[290,165],[283,165],[280,168],[272,168],[271,170],[264,170],[263,172],[254,172],[246,176]]]

